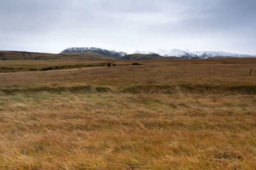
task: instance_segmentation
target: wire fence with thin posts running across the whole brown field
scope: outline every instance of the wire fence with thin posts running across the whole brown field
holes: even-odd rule
[[[256,76],[250,67],[216,67],[216,66],[120,66],[120,67],[97,67],[80,68],[54,71],[34,71],[23,73],[1,73],[0,82],[15,81],[67,81],[83,80],[86,78],[132,78],[132,77],[238,77]]]

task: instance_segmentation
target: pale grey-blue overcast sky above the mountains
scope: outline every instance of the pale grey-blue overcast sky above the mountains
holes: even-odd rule
[[[0,50],[256,54],[255,0],[0,0]]]

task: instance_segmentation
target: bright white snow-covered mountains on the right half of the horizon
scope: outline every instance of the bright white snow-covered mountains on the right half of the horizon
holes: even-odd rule
[[[185,58],[200,58],[200,59],[208,59],[211,57],[255,57],[252,55],[246,54],[238,54],[238,53],[229,53],[229,52],[212,52],[212,51],[202,51],[202,52],[190,52],[188,50],[178,50],[172,49],[168,50],[157,50],[156,52],[140,52],[137,51],[135,53],[142,54],[152,54],[157,53],[163,57],[185,57]]]

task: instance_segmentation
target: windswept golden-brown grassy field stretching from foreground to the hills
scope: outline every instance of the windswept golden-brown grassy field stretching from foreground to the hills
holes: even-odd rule
[[[256,169],[256,59],[132,62],[0,73],[0,169]]]

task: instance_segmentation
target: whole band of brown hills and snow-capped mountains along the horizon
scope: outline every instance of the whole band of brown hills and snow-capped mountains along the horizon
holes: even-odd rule
[[[168,59],[214,59],[227,57],[256,57],[253,55],[228,52],[190,52],[188,50],[157,50],[156,52],[141,52],[127,54],[115,50],[104,50],[95,47],[73,47],[61,53],[38,53],[19,51],[0,51],[0,60],[168,60]]]

